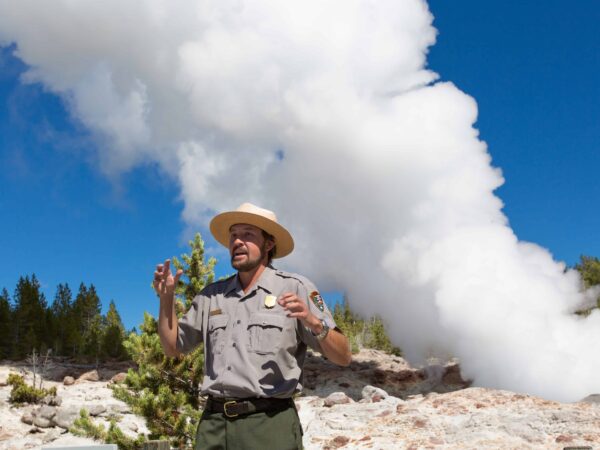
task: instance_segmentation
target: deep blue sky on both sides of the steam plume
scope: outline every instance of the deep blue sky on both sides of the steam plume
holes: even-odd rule
[[[573,265],[600,256],[600,4],[543,5],[430,1],[439,35],[429,67],[477,101],[517,236]],[[0,288],[12,294],[35,273],[52,301],[58,283],[93,283],[105,307],[115,300],[125,325],[137,325],[144,310],[156,313],[154,265],[191,238],[177,187],[153,165],[103,177],[98,144],[58,97],[19,82],[25,67],[12,52],[0,52]],[[222,259],[217,273],[228,272]]]

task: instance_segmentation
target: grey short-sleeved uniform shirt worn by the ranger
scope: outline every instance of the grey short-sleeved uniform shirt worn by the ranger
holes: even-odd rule
[[[292,292],[331,329],[333,317],[315,286],[299,275],[266,267],[244,293],[237,275],[202,290],[179,320],[177,348],[193,350],[203,340],[203,311],[208,310],[202,393],[215,397],[291,397],[302,389],[306,348],[319,341],[270,296]],[[206,308],[204,302],[209,302]]]

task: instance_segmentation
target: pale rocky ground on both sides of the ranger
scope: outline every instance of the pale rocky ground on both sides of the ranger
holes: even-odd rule
[[[348,368],[312,356],[305,369],[305,392],[296,403],[308,450],[600,449],[600,395],[567,404],[470,387],[455,362],[417,369],[372,350]],[[61,404],[16,408],[5,381],[24,370],[0,365],[0,449],[93,444],[66,430],[81,407],[100,423],[119,417],[132,436],[147,432],[107,387],[125,367],[54,367],[44,387],[56,386]]]

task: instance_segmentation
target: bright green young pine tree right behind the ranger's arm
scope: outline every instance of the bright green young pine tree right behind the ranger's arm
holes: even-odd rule
[[[183,262],[173,258],[175,268],[184,271],[176,289],[178,315],[214,279],[215,260],[204,262],[200,234],[190,241],[190,247],[191,254],[181,257]],[[129,370],[125,385],[113,387],[114,394],[146,418],[151,439],[169,439],[178,448],[189,446],[193,444],[201,415],[198,395],[203,376],[203,347],[200,345],[185,356],[168,358],[162,350],[157,325],[156,319],[145,313],[141,333],[129,335],[125,347],[138,369]]]

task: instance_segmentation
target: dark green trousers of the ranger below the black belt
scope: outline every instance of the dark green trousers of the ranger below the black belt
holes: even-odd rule
[[[296,408],[227,418],[204,411],[196,450],[301,450],[302,425]]]

